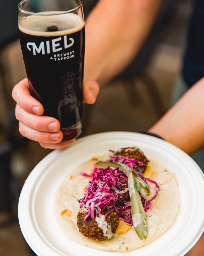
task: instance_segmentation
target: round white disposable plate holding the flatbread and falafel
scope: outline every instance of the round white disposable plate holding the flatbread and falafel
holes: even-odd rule
[[[157,159],[179,179],[180,211],[173,225],[159,238],[130,252],[105,252],[69,240],[58,227],[53,210],[56,190],[66,175],[93,156],[109,149],[137,146]],[[143,255],[180,256],[197,242],[204,227],[204,179],[186,153],[158,138],[131,132],[90,135],[47,155],[28,176],[19,199],[19,223],[25,240],[39,256]]]

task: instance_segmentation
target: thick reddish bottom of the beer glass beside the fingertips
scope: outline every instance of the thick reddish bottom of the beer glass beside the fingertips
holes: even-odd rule
[[[79,137],[79,135],[82,132],[82,123],[78,122],[75,125],[72,125],[67,128],[62,128],[60,130],[62,131],[62,134],[63,134],[62,142],[70,141],[70,140],[73,140],[74,138]]]

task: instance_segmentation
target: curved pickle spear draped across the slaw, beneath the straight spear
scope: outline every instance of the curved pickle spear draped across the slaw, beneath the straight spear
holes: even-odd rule
[[[124,172],[127,177],[129,177],[130,173],[132,173],[133,178],[137,185],[137,189],[141,193],[141,195],[142,196],[150,195],[149,187],[146,184],[146,182],[144,182],[144,180],[141,179],[139,177],[139,175],[133,169],[131,169],[129,166],[127,166],[125,164],[121,164],[121,163],[114,163],[114,162],[98,162],[98,163],[96,163],[96,167],[97,168],[108,168],[108,167],[120,168],[120,170],[122,172]]]

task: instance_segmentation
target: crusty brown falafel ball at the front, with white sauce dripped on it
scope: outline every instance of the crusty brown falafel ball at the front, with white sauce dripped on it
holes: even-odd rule
[[[102,214],[105,215],[106,211],[103,211]],[[95,241],[103,241],[106,240],[107,237],[104,236],[103,230],[98,227],[95,219],[89,218],[84,221],[86,216],[86,211],[80,210],[77,215],[77,227],[79,228],[79,232],[81,232],[85,237],[91,238]],[[108,224],[111,226],[111,231],[114,234],[119,225],[119,218],[116,211],[110,212],[105,219]]]

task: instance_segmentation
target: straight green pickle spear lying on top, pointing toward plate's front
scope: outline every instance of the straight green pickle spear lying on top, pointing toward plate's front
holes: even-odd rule
[[[137,191],[137,185],[131,172],[128,177],[128,189],[130,194],[131,214],[135,231],[141,240],[147,238],[147,221],[141,197]]]

